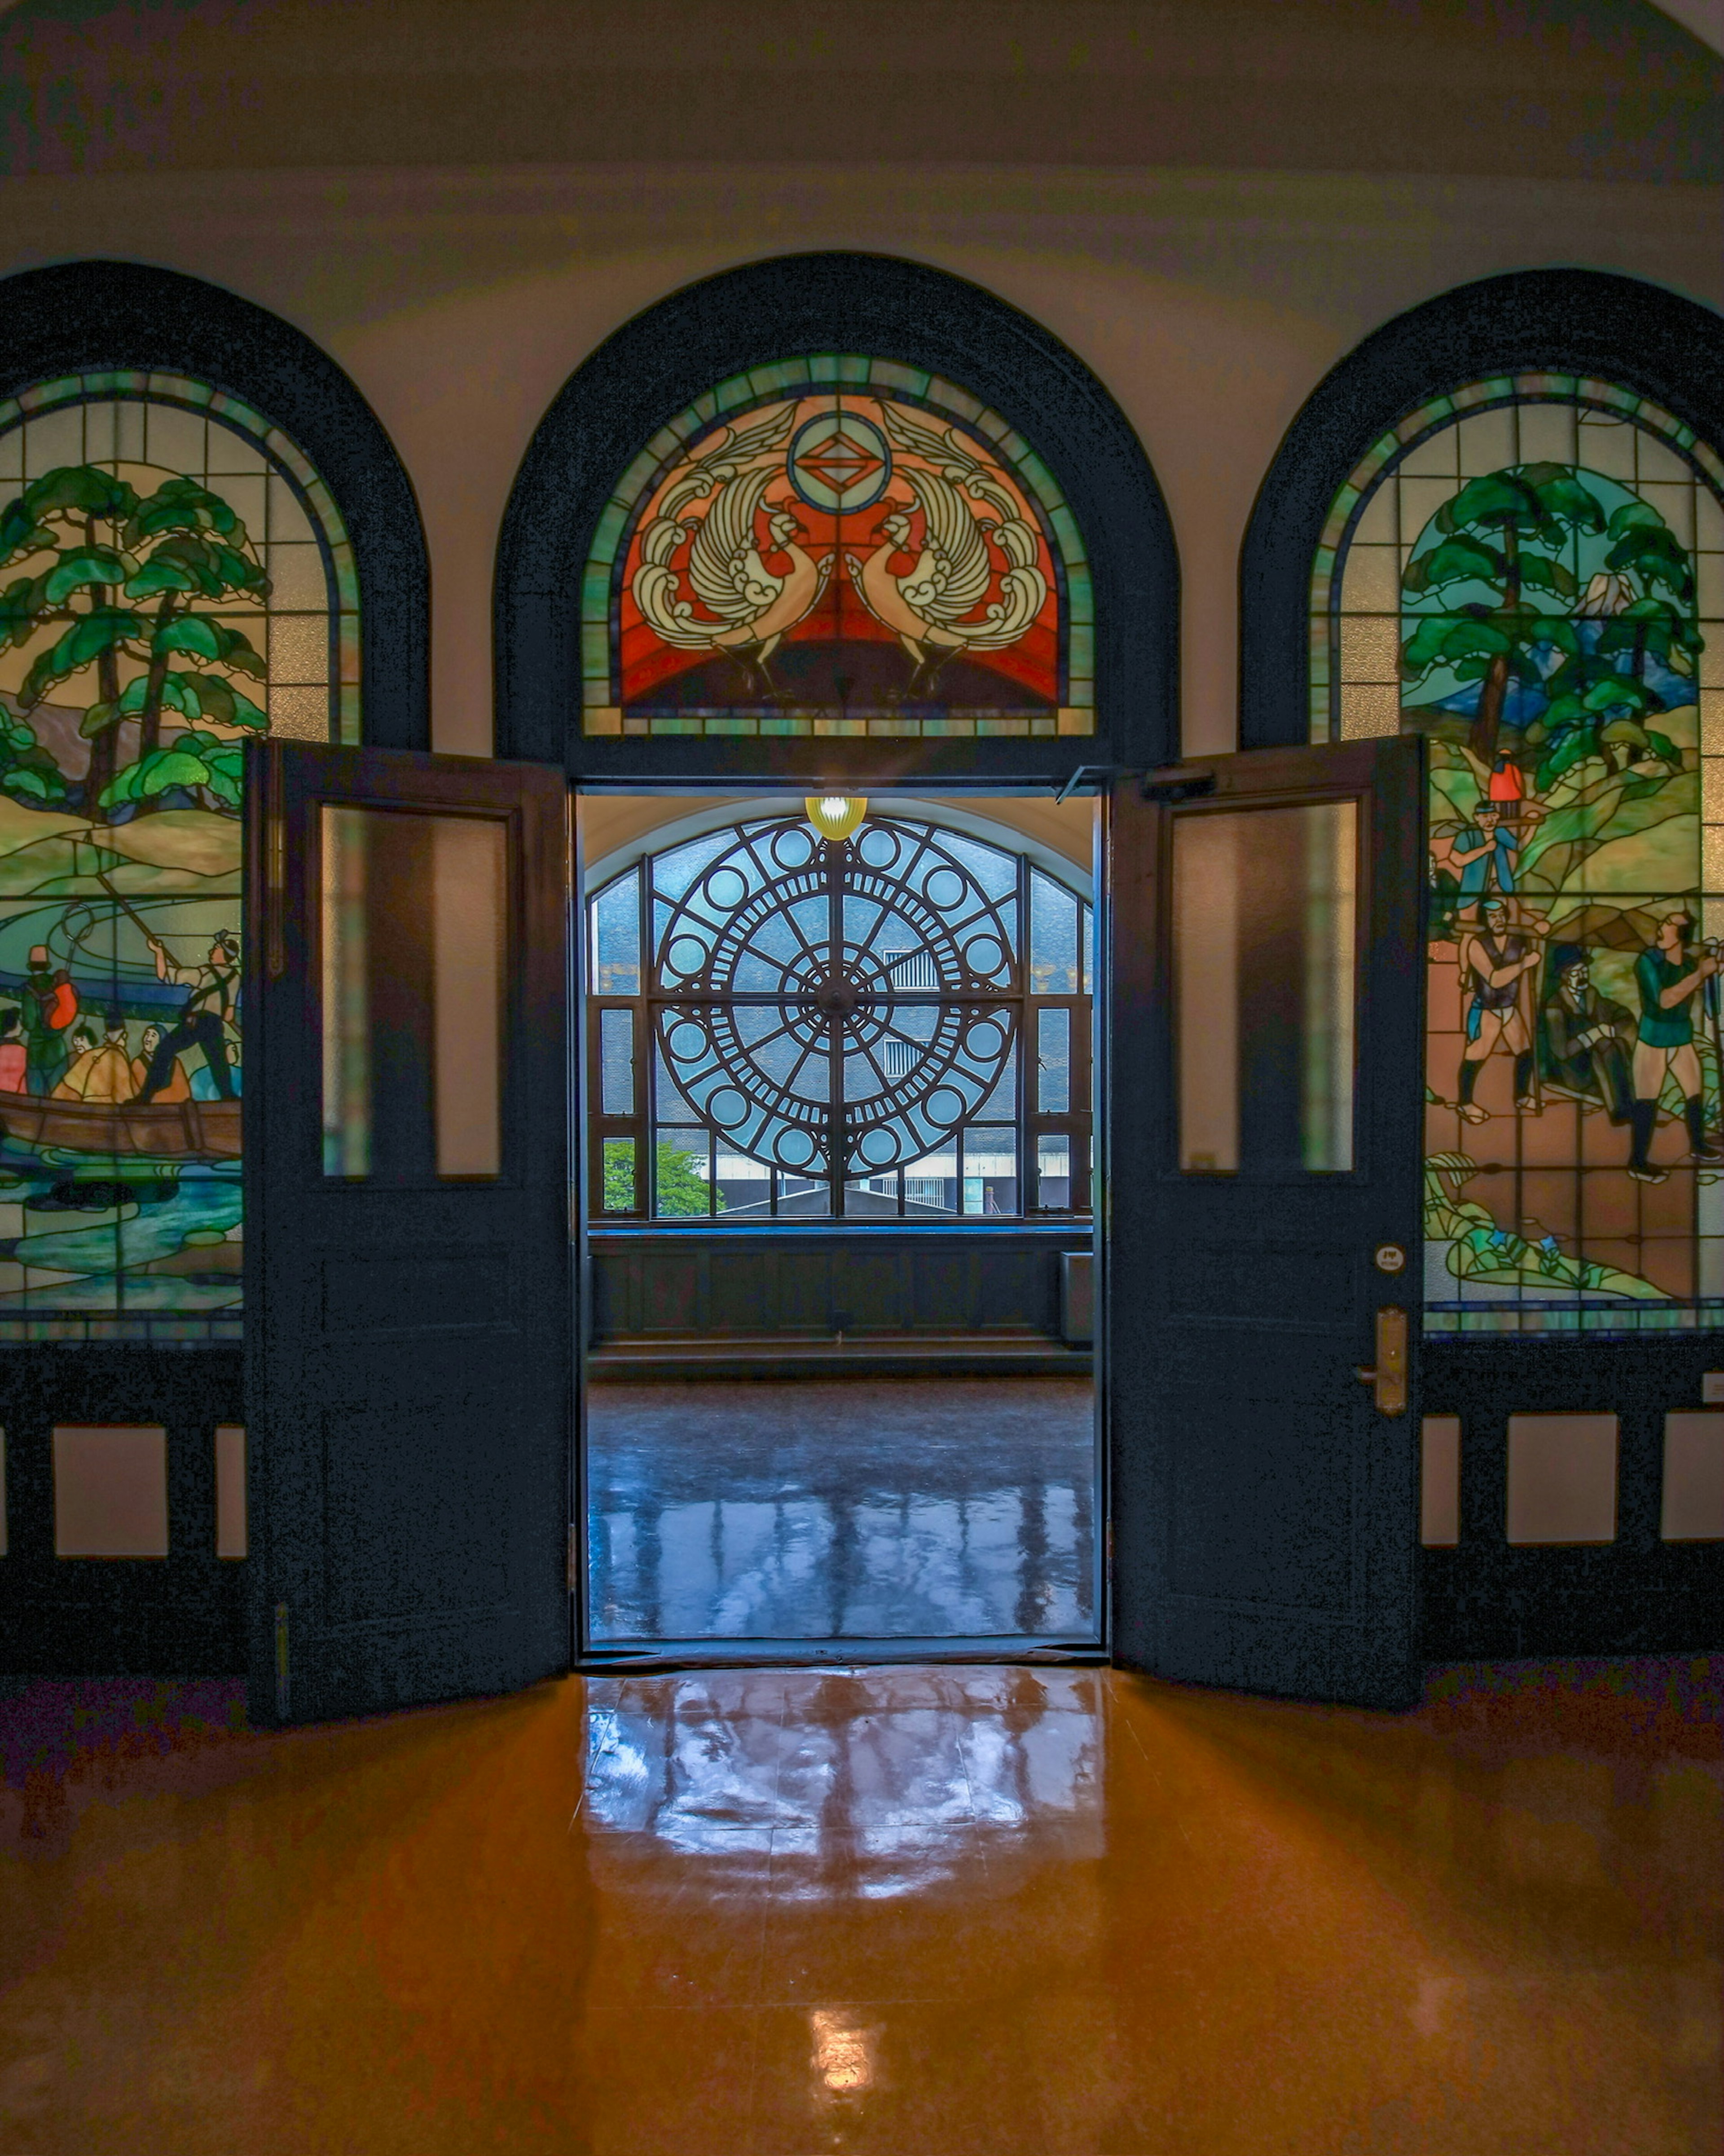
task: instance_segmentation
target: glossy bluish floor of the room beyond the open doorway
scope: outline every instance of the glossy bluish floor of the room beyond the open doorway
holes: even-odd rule
[[[1095,1634],[1069,1378],[595,1384],[595,1641]]]

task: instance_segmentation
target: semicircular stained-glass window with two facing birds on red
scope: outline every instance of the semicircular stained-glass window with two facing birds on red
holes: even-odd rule
[[[582,699],[586,733],[1093,733],[1078,522],[1037,451],[937,375],[750,369],[603,509]]]

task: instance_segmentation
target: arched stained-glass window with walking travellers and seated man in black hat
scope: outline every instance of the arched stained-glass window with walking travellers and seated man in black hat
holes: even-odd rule
[[[1724,1324],[1715,444],[1573,375],[1431,399],[1310,634],[1312,740],[1431,744],[1427,1328]]]

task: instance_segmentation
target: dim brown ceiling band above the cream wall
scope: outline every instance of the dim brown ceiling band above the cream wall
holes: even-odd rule
[[[1715,0],[1670,0],[1700,15]],[[1724,177],[1649,0],[19,0],[0,168],[924,162]]]

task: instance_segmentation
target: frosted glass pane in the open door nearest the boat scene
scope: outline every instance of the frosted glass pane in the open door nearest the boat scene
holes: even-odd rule
[[[502,1166],[506,826],[323,808],[323,1173]]]

